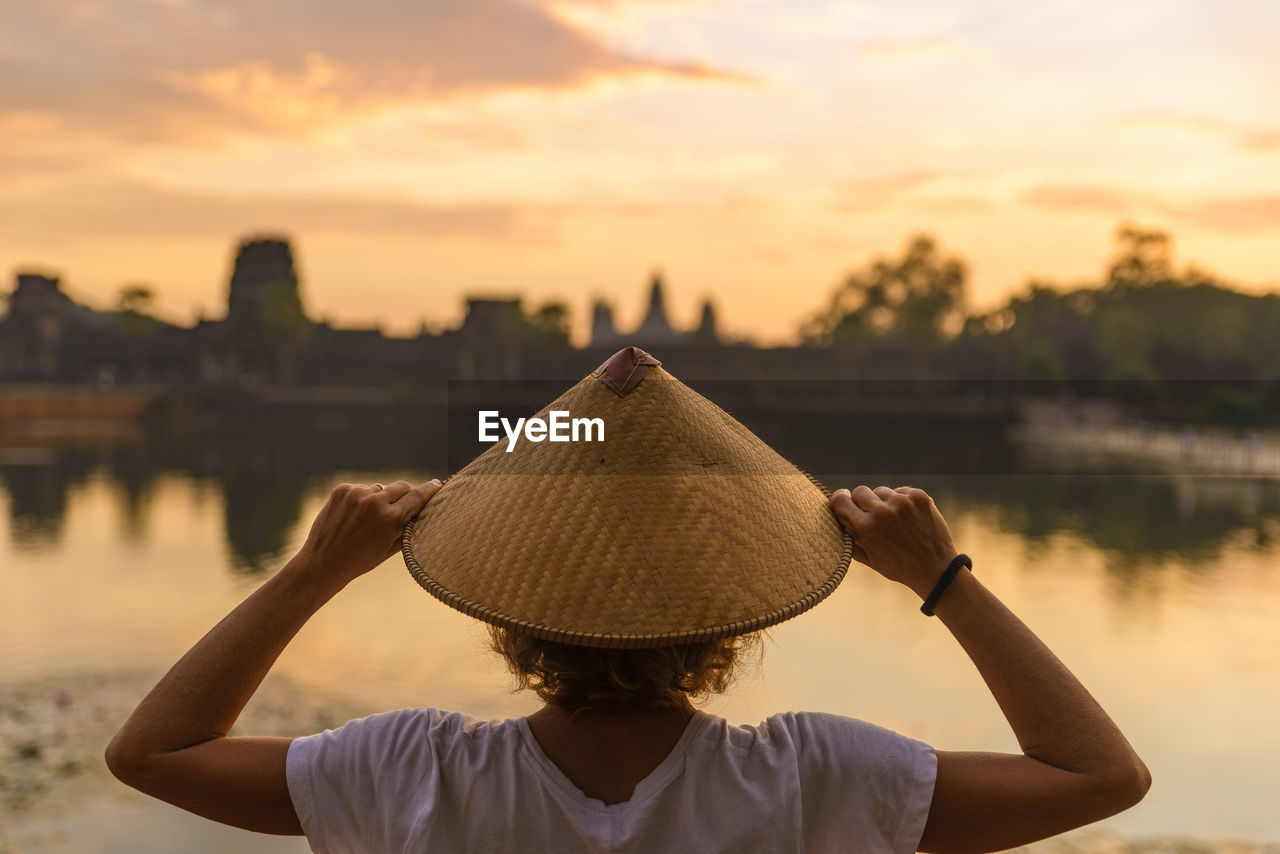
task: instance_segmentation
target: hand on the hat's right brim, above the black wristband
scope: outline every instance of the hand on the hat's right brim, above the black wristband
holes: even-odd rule
[[[959,554],[946,520],[923,489],[837,489],[831,510],[854,538],[855,560],[922,599]]]

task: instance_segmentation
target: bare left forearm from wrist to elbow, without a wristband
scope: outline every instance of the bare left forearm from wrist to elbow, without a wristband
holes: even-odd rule
[[[284,647],[339,589],[302,556],[214,626],[151,689],[111,740],[125,766],[225,736]]]

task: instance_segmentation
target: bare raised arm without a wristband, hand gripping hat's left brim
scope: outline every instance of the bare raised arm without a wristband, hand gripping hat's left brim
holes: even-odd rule
[[[228,737],[293,635],[349,581],[398,551],[401,529],[440,488],[342,484],[302,549],[151,689],[106,748],[123,782],[224,825],[301,834],[284,777],[292,739]]]

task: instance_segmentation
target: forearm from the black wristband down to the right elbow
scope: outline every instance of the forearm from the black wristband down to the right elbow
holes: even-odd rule
[[[1025,755],[1092,777],[1146,775],[1097,700],[972,572],[960,571],[936,613],[973,659]]]

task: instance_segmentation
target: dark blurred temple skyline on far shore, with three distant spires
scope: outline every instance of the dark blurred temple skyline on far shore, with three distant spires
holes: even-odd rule
[[[722,341],[710,301],[696,329],[672,326],[666,286],[655,273],[648,312],[636,329],[618,330],[612,306],[595,305],[585,350],[626,344],[708,351],[721,348]],[[10,383],[376,387],[411,380],[426,367],[434,376],[454,379],[561,375],[566,362],[576,367],[581,361],[573,353],[581,350],[570,347],[563,329],[526,311],[520,298],[467,298],[456,329],[433,334],[424,328],[410,338],[314,320],[303,305],[293,250],[280,236],[239,243],[224,319],[178,326],[123,296],[118,310],[97,311],[74,302],[58,277],[33,270],[17,273],[9,310],[0,316],[0,382]]]

